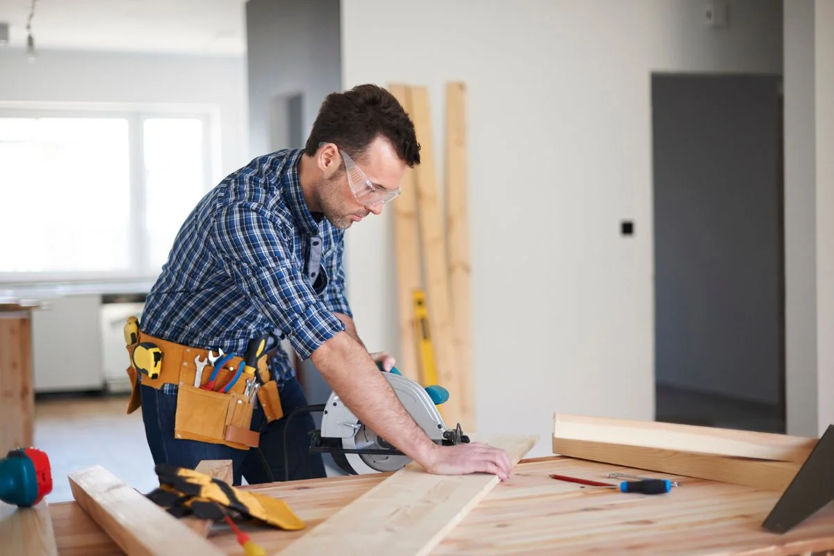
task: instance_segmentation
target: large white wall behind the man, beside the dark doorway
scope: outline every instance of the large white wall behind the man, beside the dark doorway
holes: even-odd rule
[[[716,30],[689,0],[342,3],[344,87],[429,86],[435,149],[467,86],[479,430],[544,454],[555,411],[654,418],[650,74],[781,72],[781,3],[729,7]],[[347,256],[359,333],[396,352],[392,232],[362,223]]]

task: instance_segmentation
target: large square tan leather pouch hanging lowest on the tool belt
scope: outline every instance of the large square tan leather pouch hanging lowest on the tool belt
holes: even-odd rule
[[[252,403],[239,393],[215,392],[188,383],[179,385],[175,438],[248,450],[259,442],[259,433],[249,429],[251,424]]]

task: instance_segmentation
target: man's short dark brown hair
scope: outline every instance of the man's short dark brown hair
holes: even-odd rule
[[[352,158],[363,158],[369,143],[379,135],[388,139],[409,168],[420,163],[414,123],[394,95],[377,85],[358,85],[324,98],[304,153],[313,156],[319,143],[336,143]]]

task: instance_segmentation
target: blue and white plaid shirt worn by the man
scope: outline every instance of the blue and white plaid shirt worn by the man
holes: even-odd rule
[[[309,212],[299,183],[302,151],[255,158],[230,174],[183,223],[145,302],[142,329],[156,338],[243,354],[272,332],[302,359],[352,318],[344,294],[344,231]],[[292,375],[283,349],[270,363]]]

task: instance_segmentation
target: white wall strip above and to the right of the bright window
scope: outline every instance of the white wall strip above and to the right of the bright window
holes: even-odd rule
[[[244,57],[0,51],[0,102],[204,105],[219,119],[213,180],[249,162]]]

